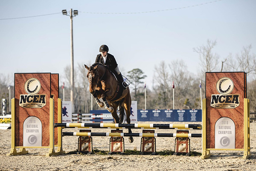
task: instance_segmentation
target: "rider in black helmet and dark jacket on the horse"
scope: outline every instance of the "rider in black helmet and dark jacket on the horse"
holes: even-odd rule
[[[114,58],[113,55],[108,53],[108,46],[103,44],[102,46],[99,47],[99,52],[100,54],[97,55],[95,63],[101,63],[105,65],[111,72],[115,73],[118,75],[117,79],[120,83],[122,83],[122,86],[124,89],[127,89],[128,85],[124,81],[121,72],[119,71],[119,68],[116,63],[116,59]]]

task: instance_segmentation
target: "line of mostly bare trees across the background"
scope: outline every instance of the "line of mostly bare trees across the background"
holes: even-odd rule
[[[200,87],[201,80],[202,98],[205,95],[205,72],[247,72],[247,98],[250,99],[250,112],[256,112],[256,55],[251,52],[252,46],[244,46],[240,53],[230,53],[223,61],[220,61],[218,53],[214,52],[216,41],[207,40],[207,43],[194,48],[198,53],[201,71],[197,74],[187,70],[186,63],[182,59],[166,64],[160,61],[154,66],[154,83],[152,89],[144,87],[146,74],[139,68],[128,71],[127,78],[131,83],[130,91],[132,100],[137,101],[138,109],[145,108],[145,88],[147,96],[147,109],[172,109],[173,88],[175,83],[175,109],[201,109]],[[90,64],[87,64],[90,66]],[[175,68],[175,69],[174,69]],[[84,64],[75,67],[74,104],[75,113],[90,113],[91,104],[93,110],[101,110],[95,101],[91,103],[87,70]],[[70,101],[70,67],[65,67],[61,78],[65,80],[65,101]],[[9,99],[10,77],[0,74],[0,98]],[[60,98],[63,97],[60,82]],[[14,97],[13,86],[11,97]],[[9,106],[9,100],[8,100]],[[2,111],[1,111],[2,112]],[[9,110],[8,110],[9,112]]]

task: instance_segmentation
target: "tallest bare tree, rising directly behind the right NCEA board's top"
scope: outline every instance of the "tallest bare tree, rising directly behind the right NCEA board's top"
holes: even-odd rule
[[[216,41],[207,40],[206,45],[193,48],[195,52],[199,54],[202,72],[217,71],[219,55],[212,52],[212,49],[216,45]]]

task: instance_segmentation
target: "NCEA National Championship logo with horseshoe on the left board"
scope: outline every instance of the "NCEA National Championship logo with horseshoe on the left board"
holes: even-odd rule
[[[46,105],[45,94],[38,94],[41,83],[36,78],[29,78],[25,83],[25,91],[28,94],[20,95],[19,105],[23,108],[41,108]]]

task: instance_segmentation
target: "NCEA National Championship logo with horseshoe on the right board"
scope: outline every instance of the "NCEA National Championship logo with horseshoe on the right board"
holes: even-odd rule
[[[220,78],[217,81],[216,89],[220,94],[212,94],[211,107],[217,109],[233,109],[239,106],[239,94],[230,94],[234,89],[234,83],[230,78]]]

